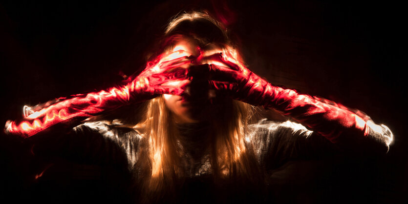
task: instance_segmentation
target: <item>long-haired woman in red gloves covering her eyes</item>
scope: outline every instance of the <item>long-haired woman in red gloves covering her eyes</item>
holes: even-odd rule
[[[26,117],[7,122],[5,131],[23,137],[96,134],[113,141],[126,153],[138,200],[146,203],[203,201],[188,190],[196,183],[223,195],[219,202],[263,201],[258,194],[268,171],[290,159],[388,151],[387,126],[251,72],[223,26],[207,14],[179,15],[156,50],[147,68],[123,85],[28,108]],[[139,102],[145,105],[137,124],[87,119]],[[254,106],[275,109],[302,125],[265,120],[249,125]]]

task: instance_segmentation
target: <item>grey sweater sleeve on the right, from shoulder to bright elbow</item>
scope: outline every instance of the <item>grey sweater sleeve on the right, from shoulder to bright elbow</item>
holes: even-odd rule
[[[331,143],[300,123],[264,119],[250,126],[252,131],[247,141],[251,142],[259,163],[266,169],[273,169],[290,160],[322,159],[338,154],[384,155],[389,145],[387,137],[392,137],[392,133],[387,126],[377,128],[370,131],[368,137],[371,138],[363,141]]]

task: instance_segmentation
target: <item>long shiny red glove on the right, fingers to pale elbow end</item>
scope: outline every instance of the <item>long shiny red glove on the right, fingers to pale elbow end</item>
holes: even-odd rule
[[[274,86],[226,54],[215,54],[206,60],[213,62],[208,66],[210,87],[226,91],[236,100],[275,109],[333,143],[338,142],[339,136],[344,132],[366,137],[373,134],[373,131],[378,134],[383,134],[384,129],[389,131],[385,125],[374,124],[363,112],[352,112],[334,102],[322,102],[322,99]],[[388,137],[388,145],[392,140],[392,133],[389,131],[385,137]]]

